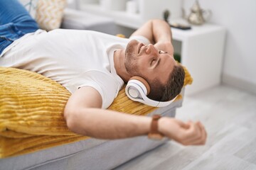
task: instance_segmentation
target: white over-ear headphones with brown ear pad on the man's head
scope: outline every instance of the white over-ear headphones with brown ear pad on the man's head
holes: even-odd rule
[[[147,97],[150,92],[149,84],[142,77],[132,77],[129,79],[127,86],[125,88],[125,93],[132,101],[139,101],[149,106],[153,107],[164,107],[171,104],[174,99],[171,101],[154,101]]]

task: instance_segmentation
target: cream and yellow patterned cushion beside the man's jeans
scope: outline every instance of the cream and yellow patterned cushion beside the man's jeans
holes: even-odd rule
[[[65,0],[38,0],[36,22],[43,30],[60,28],[63,18]]]

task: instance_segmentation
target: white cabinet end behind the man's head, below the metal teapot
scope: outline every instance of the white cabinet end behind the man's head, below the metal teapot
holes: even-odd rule
[[[205,24],[193,26],[191,30],[172,28],[175,44],[181,54],[181,63],[188,68],[193,84],[186,86],[186,94],[195,94],[220,84],[223,67],[225,29]],[[178,43],[177,43],[178,42]]]

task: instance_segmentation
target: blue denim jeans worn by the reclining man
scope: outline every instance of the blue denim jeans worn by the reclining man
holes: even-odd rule
[[[0,0],[0,55],[14,40],[38,30],[38,24],[17,0]]]

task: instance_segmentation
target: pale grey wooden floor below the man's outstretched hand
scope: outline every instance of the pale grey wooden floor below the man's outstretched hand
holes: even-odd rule
[[[161,145],[117,169],[256,169],[256,96],[230,86],[217,86],[186,96],[176,118],[200,120],[206,145]]]

